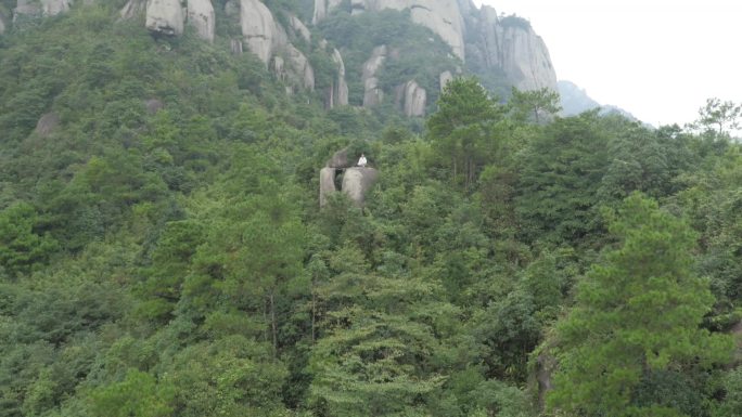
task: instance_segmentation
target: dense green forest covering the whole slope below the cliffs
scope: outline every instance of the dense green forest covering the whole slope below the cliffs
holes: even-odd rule
[[[325,110],[115,5],[0,37],[1,417],[742,415],[738,105]]]

